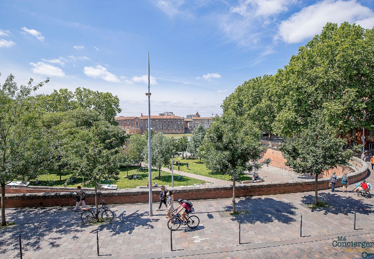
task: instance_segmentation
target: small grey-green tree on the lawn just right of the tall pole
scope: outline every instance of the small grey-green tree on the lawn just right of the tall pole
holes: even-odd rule
[[[159,170],[159,179],[161,179],[161,167],[169,166],[170,159],[172,155],[174,155],[174,152],[175,150],[170,138],[166,137],[161,132],[153,135],[151,138],[151,166],[156,167]],[[144,154],[145,159],[147,160],[148,147],[145,147]]]

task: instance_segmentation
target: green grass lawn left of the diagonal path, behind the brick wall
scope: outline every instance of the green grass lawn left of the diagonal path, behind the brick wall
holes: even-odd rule
[[[178,171],[177,171],[178,173]],[[181,176],[181,179],[178,180],[178,174],[174,173],[174,186],[186,186],[186,185],[193,185],[194,183],[205,183],[202,180],[193,179],[186,176]],[[137,179],[129,179],[129,177],[132,174],[137,174]],[[148,168],[145,168],[143,171],[137,171],[136,167],[129,167],[129,177],[126,176],[126,168],[121,168],[120,172],[120,179],[118,181],[109,181],[105,183],[102,181],[102,184],[113,184],[118,185],[117,188],[136,188],[137,186],[145,186],[148,182]],[[67,179],[69,176],[71,176],[70,173],[63,173],[62,174],[62,181],[59,179],[59,175],[56,172],[50,172],[49,174],[44,174],[40,176],[38,179],[41,181],[38,185],[35,184],[35,182],[31,182],[30,185],[36,185],[36,186],[64,186],[65,179]],[[161,171],[161,179],[159,179],[159,171],[152,169],[152,182],[157,183],[160,185],[169,185],[171,186],[171,173],[166,173]],[[67,186],[68,187],[76,187],[76,186],[82,186],[82,187],[93,187],[93,185],[86,181],[85,184],[82,185],[82,178],[77,179],[77,183],[70,183]]]

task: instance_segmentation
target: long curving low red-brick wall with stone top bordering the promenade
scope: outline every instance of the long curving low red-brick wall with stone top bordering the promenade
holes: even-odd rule
[[[364,179],[368,173],[368,165],[360,159],[353,158],[356,164],[361,168],[348,174],[349,182],[354,183]],[[335,187],[341,186],[341,177]],[[319,179],[319,190],[329,189],[329,179]],[[232,185],[217,186],[191,186],[188,188],[169,188],[174,191],[174,198],[195,199],[217,199],[232,197]],[[246,185],[237,185],[235,194],[237,197],[286,194],[295,192],[314,191],[314,180],[272,182],[272,183],[252,183]],[[159,190],[153,191],[153,201],[159,200]],[[105,199],[107,204],[129,204],[148,202],[148,190],[123,189],[118,191],[99,191],[99,201]],[[5,205],[7,208],[23,207],[53,207],[53,206],[72,206],[76,203],[75,192],[45,192],[45,193],[24,193],[24,194],[6,194]],[[87,192],[86,204],[95,204],[95,192]]]

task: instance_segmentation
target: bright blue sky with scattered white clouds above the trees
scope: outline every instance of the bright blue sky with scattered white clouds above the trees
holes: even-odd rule
[[[37,93],[85,87],[123,116],[221,113],[236,86],[274,74],[326,22],[374,26],[371,0],[17,1],[0,8],[0,83],[50,77]]]

